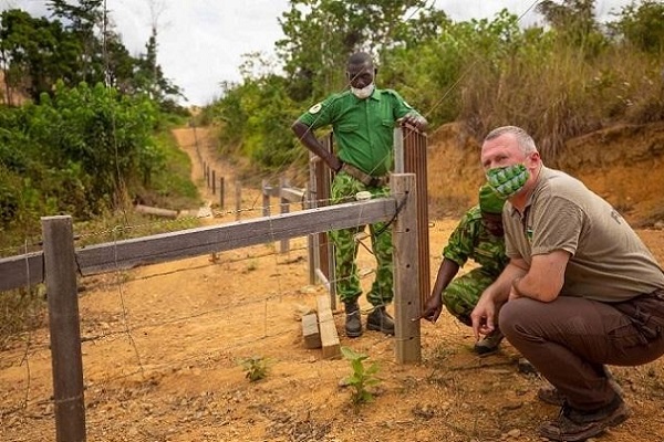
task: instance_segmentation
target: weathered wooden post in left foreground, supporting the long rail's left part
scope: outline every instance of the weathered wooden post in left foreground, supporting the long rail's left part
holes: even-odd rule
[[[85,441],[83,360],[72,218],[42,218],[42,233],[56,441]]]

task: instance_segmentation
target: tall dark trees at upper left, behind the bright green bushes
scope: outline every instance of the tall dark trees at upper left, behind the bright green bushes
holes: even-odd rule
[[[156,30],[145,54],[133,57],[110,24],[103,0],[49,1],[53,20],[19,9],[0,14],[0,70],[4,101],[28,95],[38,103],[56,82],[74,87],[103,83],[123,94],[145,93],[164,108],[174,107],[179,88],[164,77],[157,63]],[[66,24],[63,24],[66,23]]]

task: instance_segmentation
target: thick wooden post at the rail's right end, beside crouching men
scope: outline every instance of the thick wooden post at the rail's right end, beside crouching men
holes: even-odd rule
[[[401,211],[392,228],[396,361],[422,360],[419,335],[419,255],[415,173],[393,173],[392,197]]]

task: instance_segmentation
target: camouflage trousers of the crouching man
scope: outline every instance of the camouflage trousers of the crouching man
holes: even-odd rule
[[[490,274],[479,267],[474,269],[463,276],[456,277],[447,288],[443,291],[443,304],[447,311],[466,325],[473,325],[470,314],[477,305],[481,293],[491,284],[498,275]]]

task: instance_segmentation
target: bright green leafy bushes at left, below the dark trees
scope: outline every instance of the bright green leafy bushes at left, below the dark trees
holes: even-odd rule
[[[59,83],[39,105],[0,108],[0,225],[61,212],[86,219],[114,207],[127,187],[148,187],[163,168],[152,137],[157,117],[147,98],[85,83]]]

